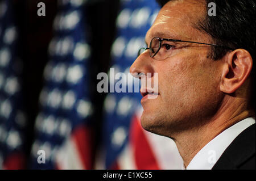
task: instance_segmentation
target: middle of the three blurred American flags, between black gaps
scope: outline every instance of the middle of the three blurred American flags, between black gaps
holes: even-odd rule
[[[59,1],[36,117],[31,169],[91,169],[93,105],[84,1]],[[46,155],[38,163],[38,151]]]

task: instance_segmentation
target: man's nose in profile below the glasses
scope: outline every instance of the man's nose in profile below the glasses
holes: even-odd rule
[[[146,75],[147,73],[153,73],[152,68],[152,58],[149,56],[148,52],[145,51],[137,57],[130,67],[130,73],[135,78],[141,78],[141,75]]]

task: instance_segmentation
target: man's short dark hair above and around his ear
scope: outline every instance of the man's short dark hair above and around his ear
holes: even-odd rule
[[[168,1],[157,0],[160,6]],[[246,49],[255,60],[255,0],[204,0],[205,16],[199,20],[195,27],[212,37],[214,44],[225,45],[233,49]],[[208,15],[208,4],[216,5],[216,16]],[[213,60],[222,58],[229,50],[220,47],[212,47],[210,57]],[[255,65],[251,71],[254,79]],[[253,80],[254,92],[255,83]],[[253,95],[253,104],[254,101]],[[253,105],[254,106],[254,105]]]

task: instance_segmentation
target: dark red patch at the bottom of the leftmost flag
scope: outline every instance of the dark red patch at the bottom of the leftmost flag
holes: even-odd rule
[[[5,159],[5,162],[3,162],[3,169],[6,170],[19,170],[25,169],[25,167],[25,158],[21,153],[13,153],[9,155],[9,157]]]

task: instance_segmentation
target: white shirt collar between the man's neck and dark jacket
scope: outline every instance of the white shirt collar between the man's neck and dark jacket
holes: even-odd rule
[[[187,166],[187,170],[210,170],[232,141],[250,125],[255,124],[255,117],[247,117],[232,125],[214,137],[201,149]],[[183,167],[184,168],[184,167]],[[184,168],[185,169],[185,168]]]

